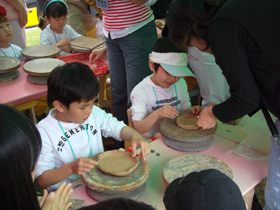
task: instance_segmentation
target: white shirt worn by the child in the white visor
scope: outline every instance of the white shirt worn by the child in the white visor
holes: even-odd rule
[[[163,88],[155,85],[151,77],[152,75],[143,79],[133,88],[130,94],[130,100],[132,102],[132,106],[130,107],[132,122],[145,119],[152,112],[164,105],[171,105],[175,108],[177,105],[178,111],[184,111],[191,107],[187,84],[184,79],[181,78],[169,88]],[[143,136],[146,139],[154,138],[156,133],[160,133],[159,123],[160,119],[158,119],[152,129],[143,134]]]

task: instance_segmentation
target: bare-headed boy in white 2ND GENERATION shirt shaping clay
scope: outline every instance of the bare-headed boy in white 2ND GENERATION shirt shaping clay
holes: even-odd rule
[[[99,83],[92,70],[78,62],[59,66],[47,80],[47,102],[51,109],[37,128],[42,151],[37,163],[37,182],[53,191],[62,182],[74,182],[97,165],[90,159],[104,152],[102,135],[131,141],[132,157],[150,153],[149,143],[135,130],[93,105]]]

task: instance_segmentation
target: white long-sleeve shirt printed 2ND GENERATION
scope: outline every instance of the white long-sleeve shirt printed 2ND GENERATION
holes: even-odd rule
[[[76,159],[80,157],[90,158],[91,152],[92,155],[104,152],[102,135],[121,140],[121,130],[126,126],[123,122],[119,122],[116,117],[107,114],[97,106],[93,106],[92,113],[84,124],[60,122],[69,139],[71,149],[58,120],[52,116],[54,112],[55,109],[50,110],[48,116],[36,125],[42,138],[42,150],[37,162],[35,177],[46,170],[59,168],[74,161],[72,149]],[[62,182],[72,183],[78,178],[80,175],[72,174]],[[62,182],[48,187],[48,191],[58,189]]]

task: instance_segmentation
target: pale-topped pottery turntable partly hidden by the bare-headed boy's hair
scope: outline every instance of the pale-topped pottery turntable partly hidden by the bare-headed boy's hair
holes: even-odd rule
[[[33,84],[46,84],[50,72],[65,63],[55,58],[39,58],[23,65],[23,71],[27,73],[26,79]]]

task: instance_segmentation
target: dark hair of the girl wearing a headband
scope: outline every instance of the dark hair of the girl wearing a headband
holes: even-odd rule
[[[51,3],[50,3],[51,2]],[[50,4],[49,4],[50,3]],[[46,8],[47,6],[47,8]],[[64,2],[55,1],[55,0],[47,0],[44,4],[44,9],[41,13],[41,17],[39,18],[39,28],[44,27],[44,18],[59,18],[67,15],[67,6]]]

